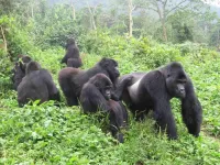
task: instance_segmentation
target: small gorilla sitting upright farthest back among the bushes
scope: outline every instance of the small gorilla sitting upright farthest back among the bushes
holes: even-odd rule
[[[82,65],[81,58],[79,57],[79,48],[77,47],[74,38],[68,38],[66,43],[66,54],[62,59],[62,63],[66,63],[70,67],[80,67]],[[72,58],[70,61],[68,61]]]

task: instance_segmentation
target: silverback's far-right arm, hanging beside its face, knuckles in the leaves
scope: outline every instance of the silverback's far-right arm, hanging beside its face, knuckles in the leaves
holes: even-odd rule
[[[188,132],[198,136],[202,121],[202,109],[189,78],[186,84],[186,97],[182,99],[182,116]]]

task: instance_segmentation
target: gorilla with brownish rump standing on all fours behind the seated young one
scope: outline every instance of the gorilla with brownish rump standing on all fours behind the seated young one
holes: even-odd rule
[[[113,82],[116,92],[112,94],[112,99],[114,100],[119,100],[124,86],[131,81],[130,77],[117,85],[117,79],[120,75],[118,70],[118,63],[111,58],[102,58],[98,64],[96,64],[96,66],[88,70],[80,70],[72,67],[63,68],[59,72],[58,81],[67,99],[68,106],[78,105],[78,98],[84,84],[86,84],[89,78],[96,74],[105,74]]]

